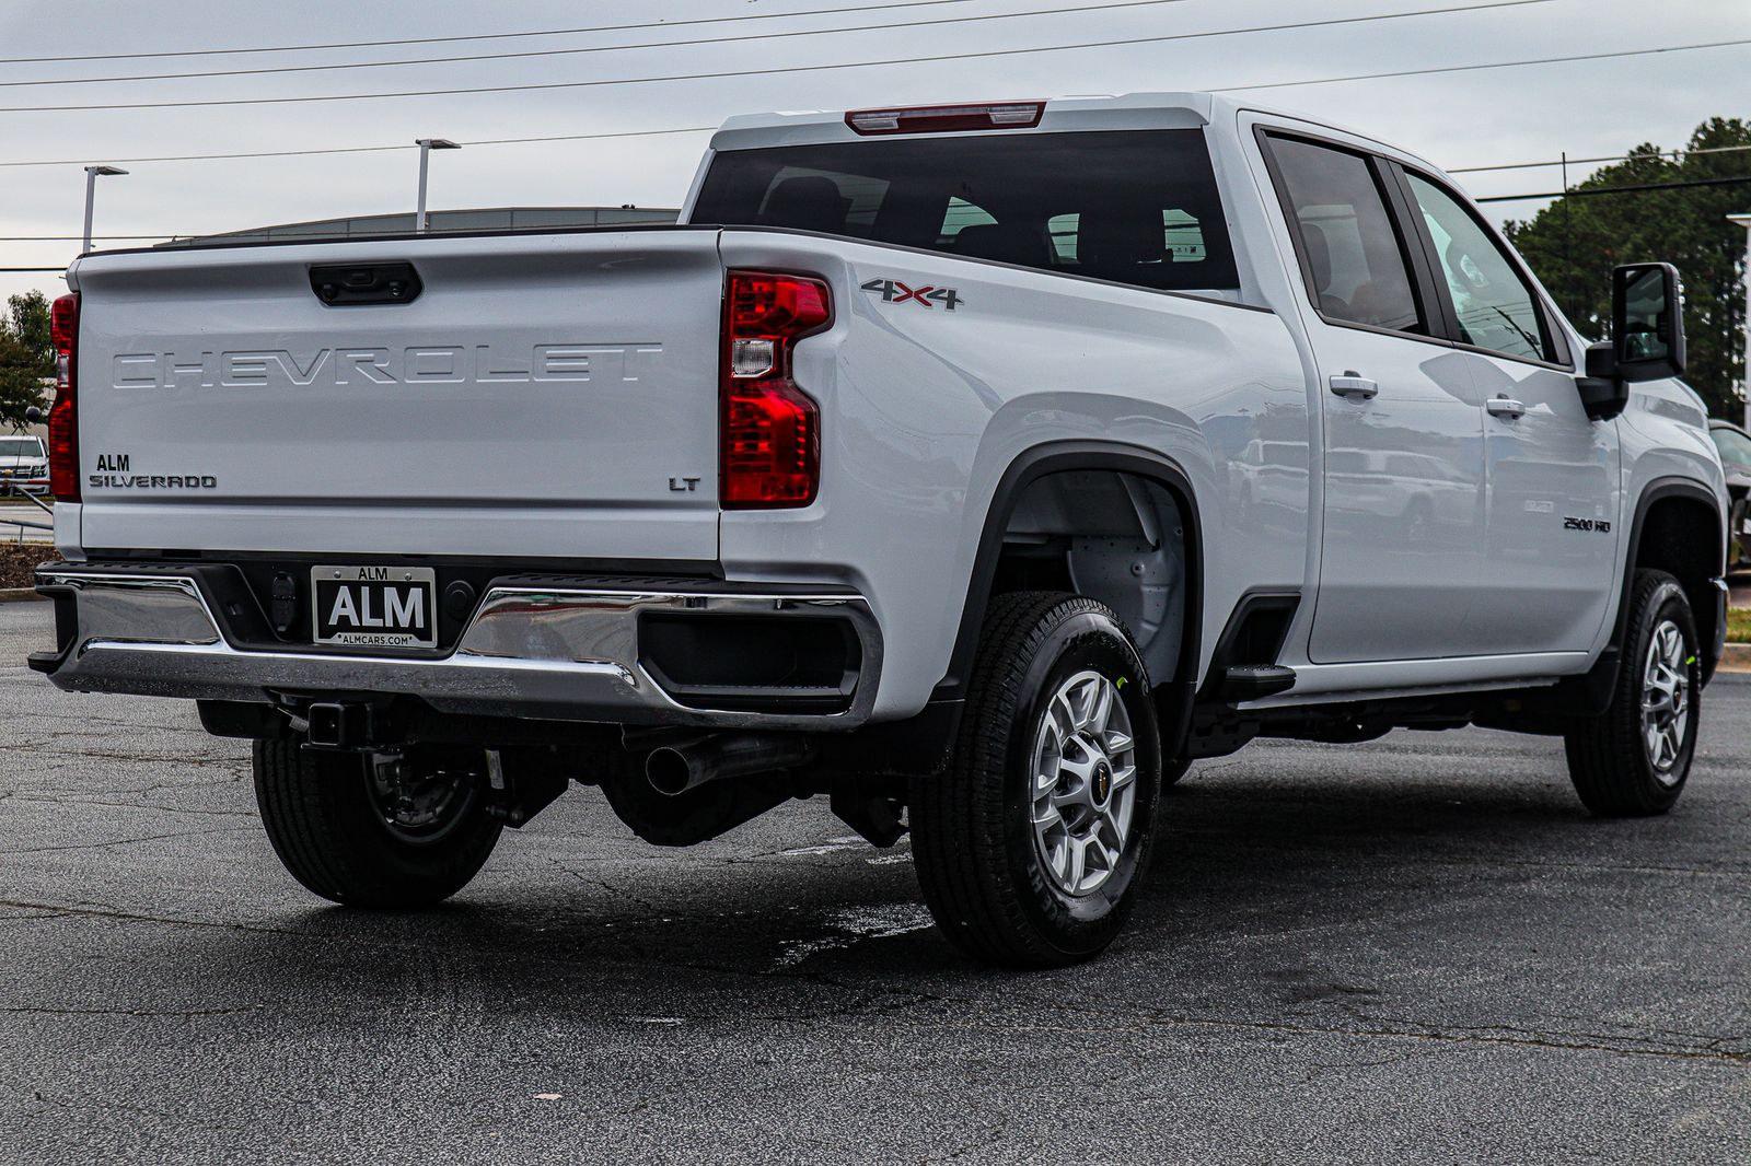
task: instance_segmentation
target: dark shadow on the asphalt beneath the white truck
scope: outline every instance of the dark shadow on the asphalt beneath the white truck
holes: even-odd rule
[[[1579,942],[1550,935],[1562,900],[1609,893],[1600,874],[1670,867],[1684,819],[1593,821],[1565,783],[1438,777],[1191,781],[1166,812],[1128,933],[1094,966],[1121,996],[1171,982],[1196,989],[1189,1001],[1229,1005],[1368,996],[1380,991],[1369,984],[1427,975],[1431,963],[1464,970],[1480,947]],[[336,1007],[436,994],[476,1008],[683,1019],[814,1015],[949,984],[998,998],[1016,984],[963,961],[930,924],[911,863],[872,865],[881,854],[868,849],[585,861],[566,839],[569,858],[531,865],[518,839],[508,842],[517,868],[441,909],[313,909],[282,916],[289,938],[266,942],[208,931],[203,970]],[[1366,977],[1341,966],[1357,945],[1371,952]]]

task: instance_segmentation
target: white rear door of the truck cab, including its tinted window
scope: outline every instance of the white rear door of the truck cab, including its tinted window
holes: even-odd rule
[[[1317,664],[1455,655],[1483,587],[1483,418],[1394,217],[1385,163],[1264,135],[1324,403]]]

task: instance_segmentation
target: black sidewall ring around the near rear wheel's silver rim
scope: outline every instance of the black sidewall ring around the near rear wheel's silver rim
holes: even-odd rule
[[[1136,753],[1136,805],[1131,835],[1119,870],[1093,895],[1070,900],[1061,895],[1040,865],[1033,842],[1031,769],[1035,734],[1058,686],[1082,671],[1096,671],[1119,686],[1131,718]],[[1121,683],[1122,681],[1122,683]],[[1003,749],[1003,856],[1021,909],[1035,931],[1065,954],[1100,951],[1122,926],[1131,893],[1149,868],[1161,793],[1161,742],[1149,697],[1143,662],[1129,636],[1110,616],[1079,611],[1047,632],[1028,662],[1021,685],[1023,702]]]

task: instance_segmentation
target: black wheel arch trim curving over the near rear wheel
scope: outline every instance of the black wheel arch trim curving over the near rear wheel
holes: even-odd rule
[[[1184,558],[1180,564],[1184,572],[1182,627],[1178,629],[1173,678],[1154,685],[1157,707],[1163,709],[1159,725],[1163,755],[1173,756],[1191,725],[1191,706],[1203,648],[1203,525],[1196,490],[1180,464],[1163,453],[1135,445],[1087,439],[1052,441],[1028,448],[1010,460],[986,508],[972,576],[968,578],[967,594],[961,602],[961,622],[949,655],[949,669],[937,685],[933,699],[960,700],[965,697],[967,679],[972,674],[974,651],[979,644],[979,630],[991,597],[998,594],[998,567],[1005,560],[1005,536],[1010,532],[1010,525],[1017,516],[1023,499],[1028,497],[1030,487],[1037,487],[1058,474],[1079,473],[1138,478],[1166,492],[1178,509],[1178,541]]]

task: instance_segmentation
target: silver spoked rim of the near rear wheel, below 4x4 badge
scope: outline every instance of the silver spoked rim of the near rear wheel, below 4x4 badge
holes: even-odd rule
[[[1117,872],[1136,811],[1131,714],[1114,681],[1077,672],[1052,693],[1033,737],[1033,847],[1070,898],[1100,891]]]

